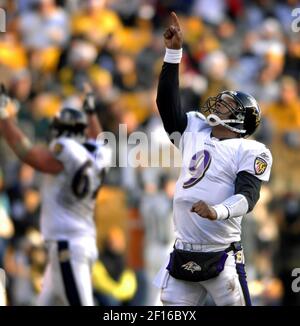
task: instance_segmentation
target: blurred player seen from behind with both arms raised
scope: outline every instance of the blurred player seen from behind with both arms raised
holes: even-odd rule
[[[101,127],[93,95],[86,95],[85,112],[64,108],[58,113],[49,148],[30,143],[10,116],[11,106],[2,92],[0,133],[20,160],[45,173],[41,232],[49,259],[38,304],[93,305],[94,206],[110,154],[96,142]]]

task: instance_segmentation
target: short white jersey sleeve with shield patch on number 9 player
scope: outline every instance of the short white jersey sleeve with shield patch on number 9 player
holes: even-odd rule
[[[273,158],[265,145],[253,142],[241,146],[238,160],[237,173],[245,171],[261,181],[269,181]]]

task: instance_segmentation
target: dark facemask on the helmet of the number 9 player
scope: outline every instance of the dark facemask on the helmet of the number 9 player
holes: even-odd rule
[[[241,136],[246,133],[245,109],[231,94],[222,92],[217,96],[209,97],[201,107],[201,112],[212,127],[222,125]]]

